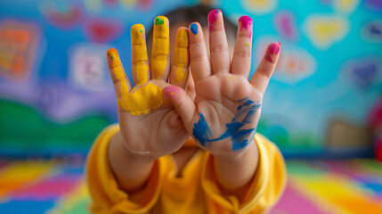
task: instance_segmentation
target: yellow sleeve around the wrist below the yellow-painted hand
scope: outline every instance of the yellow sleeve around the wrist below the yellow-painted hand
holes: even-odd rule
[[[155,161],[147,185],[142,190],[144,196],[139,203],[129,201],[127,193],[119,190],[108,158],[110,139],[119,130],[118,125],[105,128],[93,143],[86,163],[86,179],[92,198],[90,210],[93,213],[148,213],[157,203],[161,189],[159,161]]]

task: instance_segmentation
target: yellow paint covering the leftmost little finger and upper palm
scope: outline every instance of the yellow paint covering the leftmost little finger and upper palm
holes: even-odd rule
[[[162,88],[155,86],[152,83],[137,88],[133,93],[128,93],[128,86],[126,84],[124,71],[122,70],[117,51],[115,49],[110,49],[108,55],[112,62],[116,78],[121,83],[121,97],[118,98],[119,106],[131,114],[139,116],[142,113],[147,114],[150,109],[156,109],[163,103]]]

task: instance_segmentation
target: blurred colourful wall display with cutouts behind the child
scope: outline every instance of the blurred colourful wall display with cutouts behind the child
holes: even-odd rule
[[[370,110],[382,92],[378,0],[1,1],[0,153],[86,153],[117,122],[106,50],[129,65],[134,23],[149,29],[156,15],[200,3],[233,22],[254,19],[253,70],[264,45],[281,43],[258,132],[286,156],[371,155]]]

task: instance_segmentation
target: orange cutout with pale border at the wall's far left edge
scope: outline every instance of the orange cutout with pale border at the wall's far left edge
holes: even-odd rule
[[[27,80],[36,62],[40,29],[25,21],[0,22],[0,75]]]

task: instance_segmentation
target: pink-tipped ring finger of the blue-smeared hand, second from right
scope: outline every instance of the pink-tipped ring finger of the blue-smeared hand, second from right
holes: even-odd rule
[[[239,19],[238,36],[233,52],[231,72],[248,79],[251,70],[253,21],[249,16]]]

